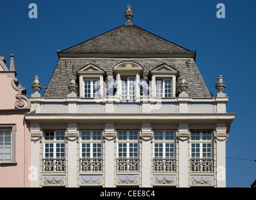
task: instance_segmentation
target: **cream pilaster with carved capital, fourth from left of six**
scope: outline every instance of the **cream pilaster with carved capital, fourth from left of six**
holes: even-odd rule
[[[153,138],[151,123],[141,124],[141,187],[151,185],[151,140]]]

